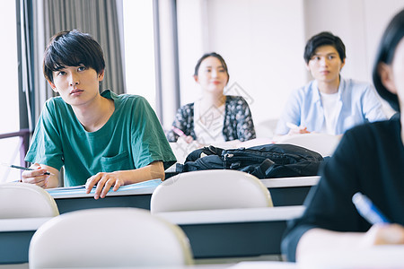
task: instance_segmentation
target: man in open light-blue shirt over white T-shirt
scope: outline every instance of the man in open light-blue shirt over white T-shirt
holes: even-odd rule
[[[277,135],[338,135],[358,124],[386,119],[371,84],[341,77],[345,59],[345,45],[332,33],[309,39],[304,61],[314,80],[292,92],[277,123]]]

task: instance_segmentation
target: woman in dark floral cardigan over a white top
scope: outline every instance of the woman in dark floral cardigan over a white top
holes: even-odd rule
[[[215,52],[202,56],[195,66],[194,79],[202,89],[202,97],[179,108],[172,130],[167,133],[170,142],[177,142],[180,136],[187,143],[200,144],[243,142],[256,137],[246,100],[224,95],[229,73],[222,56]]]

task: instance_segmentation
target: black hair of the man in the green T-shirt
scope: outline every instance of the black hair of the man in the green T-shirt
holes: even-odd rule
[[[97,74],[105,69],[100,44],[79,30],[64,30],[52,37],[43,57],[43,74],[53,82],[53,72],[66,66],[84,65]]]

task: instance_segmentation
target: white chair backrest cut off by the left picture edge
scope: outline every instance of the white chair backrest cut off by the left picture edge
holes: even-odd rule
[[[54,217],[59,214],[55,199],[33,184],[0,184],[0,219]]]

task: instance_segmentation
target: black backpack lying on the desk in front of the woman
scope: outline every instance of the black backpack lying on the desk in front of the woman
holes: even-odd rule
[[[205,169],[235,169],[257,178],[315,176],[321,154],[293,144],[270,143],[250,148],[224,150],[214,146],[190,152],[176,172]]]

